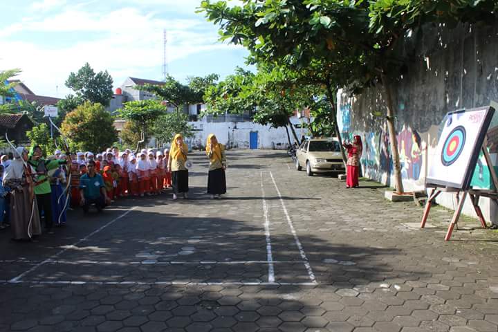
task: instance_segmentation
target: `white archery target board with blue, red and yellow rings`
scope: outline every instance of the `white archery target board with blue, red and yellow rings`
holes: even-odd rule
[[[425,183],[466,190],[495,109],[450,112],[443,123]]]

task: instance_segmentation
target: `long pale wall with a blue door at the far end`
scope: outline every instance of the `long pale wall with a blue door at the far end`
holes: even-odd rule
[[[293,124],[299,124],[298,118],[291,118]],[[258,149],[286,149],[288,140],[285,128],[272,128],[269,125],[261,125],[254,122],[208,122],[196,121],[189,122],[196,131],[194,138],[190,138],[189,142],[193,146],[205,146],[205,142],[210,133],[214,133],[219,142],[234,149],[249,149],[249,135],[251,131],[258,133]],[[301,129],[295,129],[297,136],[300,137]],[[294,142],[292,133],[291,142]],[[303,130],[303,135],[308,135],[307,131]]]

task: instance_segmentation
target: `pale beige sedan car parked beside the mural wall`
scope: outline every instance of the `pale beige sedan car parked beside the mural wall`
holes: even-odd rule
[[[311,138],[305,140],[296,151],[295,167],[306,167],[306,174],[345,172],[337,138]]]

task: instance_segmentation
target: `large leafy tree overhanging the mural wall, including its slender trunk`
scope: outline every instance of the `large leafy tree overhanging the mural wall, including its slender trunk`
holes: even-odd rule
[[[331,69],[333,86],[347,86],[352,93],[381,84],[396,190],[403,192],[390,90],[407,62],[399,46],[416,37],[422,24],[492,22],[497,8],[493,0],[245,0],[241,6],[205,0],[200,11],[220,26],[222,40],[248,48],[256,63],[300,70],[317,62]]]

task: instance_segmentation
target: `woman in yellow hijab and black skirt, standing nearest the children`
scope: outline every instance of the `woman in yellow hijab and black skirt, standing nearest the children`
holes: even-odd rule
[[[173,199],[178,198],[178,194],[183,194],[187,199],[188,192],[188,169],[185,167],[187,162],[188,147],[183,142],[183,136],[177,133],[169,150],[167,171],[172,172]]]

